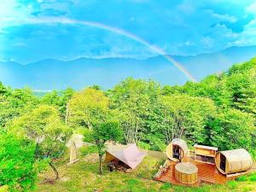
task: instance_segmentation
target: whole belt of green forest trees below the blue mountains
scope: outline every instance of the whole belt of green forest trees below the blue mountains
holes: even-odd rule
[[[190,147],[246,148],[255,160],[256,58],[175,86],[127,78],[110,90],[94,85],[37,96],[0,83],[0,186],[34,189],[46,167],[58,179],[73,133],[96,144],[100,162],[108,141],[164,151],[177,137]]]

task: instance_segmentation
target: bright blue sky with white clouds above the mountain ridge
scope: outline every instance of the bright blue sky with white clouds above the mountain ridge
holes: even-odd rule
[[[0,61],[144,59],[250,45],[253,0],[0,0]]]

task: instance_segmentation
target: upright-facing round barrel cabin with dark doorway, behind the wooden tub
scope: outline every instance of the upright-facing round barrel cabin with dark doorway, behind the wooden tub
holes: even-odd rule
[[[175,162],[181,161],[188,154],[187,143],[180,138],[173,139],[166,148],[167,157]]]

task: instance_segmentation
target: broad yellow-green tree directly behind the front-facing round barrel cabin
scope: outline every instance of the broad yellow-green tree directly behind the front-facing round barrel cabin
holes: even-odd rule
[[[167,142],[185,137],[189,143],[204,143],[208,120],[216,115],[212,100],[195,96],[163,96],[162,121]]]

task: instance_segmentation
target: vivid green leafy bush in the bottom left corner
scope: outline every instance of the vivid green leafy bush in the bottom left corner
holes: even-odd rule
[[[35,143],[9,133],[0,133],[0,186],[11,191],[33,189],[38,170]]]

